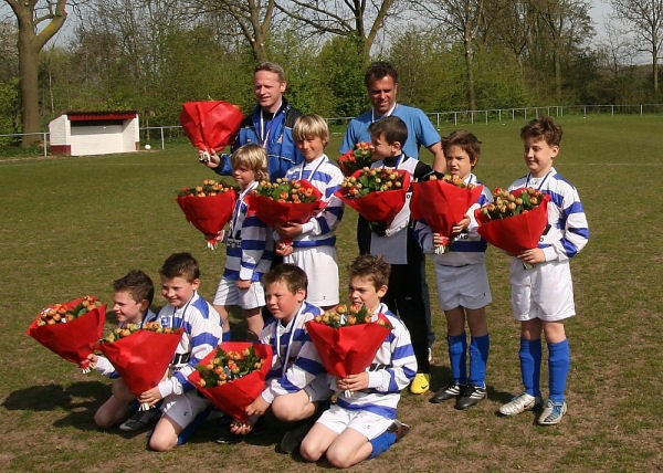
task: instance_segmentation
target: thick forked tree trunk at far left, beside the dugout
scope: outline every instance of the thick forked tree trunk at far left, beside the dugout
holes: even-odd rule
[[[64,24],[66,1],[4,1],[11,7],[19,24],[19,76],[23,133],[39,133],[39,53]],[[45,25],[42,28],[44,22]],[[30,147],[38,141],[38,135],[27,135],[22,139],[22,145]]]

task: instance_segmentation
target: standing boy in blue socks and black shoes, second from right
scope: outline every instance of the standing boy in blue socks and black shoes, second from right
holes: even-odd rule
[[[472,170],[478,162],[481,141],[470,132],[461,129],[442,139],[446,170],[465,185],[481,186]],[[474,210],[493,201],[485,187],[466,211],[465,217],[452,228],[452,243],[443,254],[433,254],[438,278],[438,299],[446,318],[446,339],[452,382],[431,398],[438,403],[454,399],[456,409],[467,409],[486,398],[486,364],[490,337],[485,307],[492,302],[485,252],[487,243],[476,229]],[[424,253],[433,253],[443,244],[442,235],[433,233],[423,221],[418,221],[414,234]],[[470,374],[466,368],[467,337],[465,320],[470,327]],[[469,375],[469,376],[467,376]]]

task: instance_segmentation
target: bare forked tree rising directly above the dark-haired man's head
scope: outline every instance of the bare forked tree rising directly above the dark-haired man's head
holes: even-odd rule
[[[368,63],[370,49],[388,17],[396,13],[396,0],[280,0],[278,10],[306,28],[322,34],[361,39],[362,56]],[[369,8],[367,10],[367,8]]]

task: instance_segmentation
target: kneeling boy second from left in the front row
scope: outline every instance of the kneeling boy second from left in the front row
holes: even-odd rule
[[[164,399],[164,414],[149,439],[150,449],[162,452],[183,443],[210,407],[210,401],[198,395],[187,377],[219,345],[222,325],[214,307],[198,295],[200,271],[193,256],[171,254],[159,275],[161,295],[168,304],[159,311],[158,322],[161,327],[185,329],[169,375],[138,397],[140,402],[149,404]]]

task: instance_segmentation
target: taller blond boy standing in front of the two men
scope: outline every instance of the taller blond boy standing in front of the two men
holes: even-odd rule
[[[327,123],[319,115],[311,114],[297,118],[293,127],[293,139],[304,162],[291,168],[285,177],[290,180],[306,179],[322,193],[325,208],[306,223],[277,225],[275,238],[292,239],[291,245],[282,241],[276,253],[283,262],[304,270],[308,276],[306,299],[324,311],[338,304],[338,263],[334,231],[343,217],[343,201],[334,196],[343,183],[343,172],[325,155],[329,141]]]

